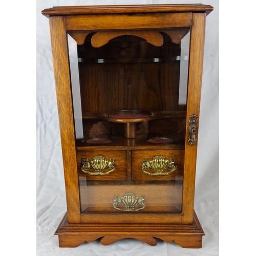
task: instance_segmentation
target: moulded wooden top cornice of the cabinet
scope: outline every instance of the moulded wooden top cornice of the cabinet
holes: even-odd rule
[[[213,7],[203,4],[176,5],[105,5],[105,6],[58,6],[45,9],[45,16],[88,15],[88,14],[131,14],[165,12],[205,12],[209,14]]]

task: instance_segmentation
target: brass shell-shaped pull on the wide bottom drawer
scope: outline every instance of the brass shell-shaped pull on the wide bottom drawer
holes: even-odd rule
[[[133,193],[126,193],[123,197],[115,195],[113,207],[123,211],[137,211],[145,208],[145,196],[136,197]]]

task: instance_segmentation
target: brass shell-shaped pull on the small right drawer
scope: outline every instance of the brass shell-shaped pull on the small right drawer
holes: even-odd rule
[[[177,168],[175,165],[175,158],[170,158],[170,160],[164,160],[164,156],[155,156],[153,160],[147,161],[146,158],[143,158],[142,170],[145,174],[151,176],[157,175],[169,175],[174,172]],[[153,169],[154,173],[146,172],[146,170]],[[163,172],[164,169],[168,169],[168,172]]]

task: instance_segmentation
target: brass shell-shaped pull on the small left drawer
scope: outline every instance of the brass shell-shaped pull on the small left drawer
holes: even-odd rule
[[[94,169],[94,172],[90,172],[90,169]],[[104,172],[104,169],[110,169],[108,172]],[[113,172],[115,169],[115,158],[111,158],[110,161],[106,161],[102,156],[95,156],[93,160],[89,161],[88,158],[82,159],[81,170],[82,172],[90,175],[106,175]]]

